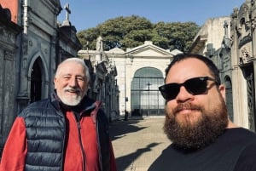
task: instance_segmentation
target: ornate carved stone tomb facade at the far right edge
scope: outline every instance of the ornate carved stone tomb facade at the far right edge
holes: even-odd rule
[[[246,1],[231,14],[231,65],[235,122],[255,131],[256,4]]]

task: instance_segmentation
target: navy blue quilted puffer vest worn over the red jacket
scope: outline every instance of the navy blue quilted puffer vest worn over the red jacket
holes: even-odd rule
[[[102,110],[95,110],[97,105],[86,99],[84,109],[85,112],[91,111],[90,115],[96,121],[101,170],[109,171],[108,119]],[[24,117],[26,123],[26,171],[62,171],[66,123],[55,94],[48,100],[32,103],[20,113],[20,117]]]

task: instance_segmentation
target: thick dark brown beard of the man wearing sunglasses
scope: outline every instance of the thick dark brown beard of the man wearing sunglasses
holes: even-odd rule
[[[164,131],[173,145],[184,150],[196,150],[211,144],[223,134],[228,124],[227,109],[223,99],[212,111],[205,111],[198,106],[191,107],[201,111],[202,117],[197,123],[181,125],[176,117],[172,114],[168,115],[166,111]]]

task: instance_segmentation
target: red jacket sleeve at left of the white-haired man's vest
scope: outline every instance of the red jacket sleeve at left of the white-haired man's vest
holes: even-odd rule
[[[25,169],[26,151],[24,119],[17,117],[3,148],[0,171],[23,171]]]

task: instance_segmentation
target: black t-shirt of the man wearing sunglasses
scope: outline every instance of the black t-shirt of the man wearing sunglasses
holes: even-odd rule
[[[256,171],[256,134],[228,128],[214,143],[197,151],[169,145],[148,171]]]

